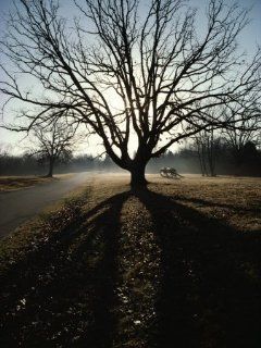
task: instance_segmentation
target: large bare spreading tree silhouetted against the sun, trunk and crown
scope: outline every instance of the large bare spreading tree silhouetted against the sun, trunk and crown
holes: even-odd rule
[[[24,102],[34,120],[72,110],[75,122],[130,172],[132,186],[146,185],[148,161],[173,144],[210,125],[233,125],[207,110],[244,105],[251,115],[259,105],[260,50],[251,61],[237,51],[248,24],[248,11],[237,4],[210,0],[199,30],[197,11],[183,0],[151,0],[148,7],[138,0],[75,1],[80,17],[74,25],[54,0],[15,3],[1,47],[20,75],[2,65],[0,90]],[[34,77],[38,90],[25,90],[21,74]]]

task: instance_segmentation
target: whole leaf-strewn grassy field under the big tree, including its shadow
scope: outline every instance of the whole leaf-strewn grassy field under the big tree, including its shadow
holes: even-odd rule
[[[1,241],[1,347],[261,347],[261,179],[148,178]]]

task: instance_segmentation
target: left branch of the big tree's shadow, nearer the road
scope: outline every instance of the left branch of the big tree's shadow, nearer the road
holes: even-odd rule
[[[120,214],[128,196],[76,216],[9,272],[1,347],[112,347]]]

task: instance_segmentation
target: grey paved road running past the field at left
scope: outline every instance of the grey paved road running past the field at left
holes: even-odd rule
[[[90,177],[90,173],[77,173],[67,179],[54,181],[11,192],[1,192],[0,237],[8,235],[24,221],[64,197]]]

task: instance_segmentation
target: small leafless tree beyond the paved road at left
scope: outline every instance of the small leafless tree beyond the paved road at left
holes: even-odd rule
[[[59,160],[66,160],[72,156],[76,144],[75,132],[75,128],[61,121],[49,125],[38,122],[32,127],[30,156],[48,162],[47,177],[52,177],[54,164]]]

